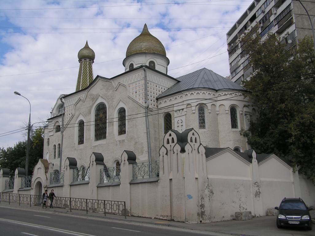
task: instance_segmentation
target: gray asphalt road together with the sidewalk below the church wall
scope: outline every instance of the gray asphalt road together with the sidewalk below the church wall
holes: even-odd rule
[[[313,210],[314,211],[314,210]],[[314,212],[312,211],[312,216]],[[42,209],[36,206],[0,204],[0,236],[10,235],[237,235],[237,236],[307,236],[304,228],[276,227],[276,216],[255,217],[248,221],[185,224],[159,219],[106,215],[66,209]]]

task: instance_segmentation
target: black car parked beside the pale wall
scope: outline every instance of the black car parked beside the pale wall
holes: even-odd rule
[[[280,206],[275,207],[278,211],[277,227],[283,226],[304,226],[307,229],[312,229],[312,219],[310,210],[312,207],[307,207],[301,198],[284,198]]]

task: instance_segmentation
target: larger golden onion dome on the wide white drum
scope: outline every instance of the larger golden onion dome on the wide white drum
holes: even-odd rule
[[[146,24],[144,25],[141,34],[129,44],[126,57],[137,53],[156,53],[166,57],[166,51],[163,44],[160,40],[150,34]]]

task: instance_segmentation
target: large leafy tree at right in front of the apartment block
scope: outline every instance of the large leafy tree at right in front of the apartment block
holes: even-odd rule
[[[287,48],[269,34],[253,29],[241,39],[254,72],[242,85],[244,97],[258,109],[258,119],[241,130],[257,153],[289,158],[315,185],[315,57],[312,38]],[[295,167],[296,166],[296,167]]]

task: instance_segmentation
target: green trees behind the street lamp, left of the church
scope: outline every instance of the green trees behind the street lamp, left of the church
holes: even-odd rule
[[[39,158],[43,158],[43,128],[37,128],[31,134],[28,173],[31,175]],[[8,168],[10,177],[14,177],[16,168],[25,168],[27,141],[19,141],[14,147],[0,149],[0,168]]]

